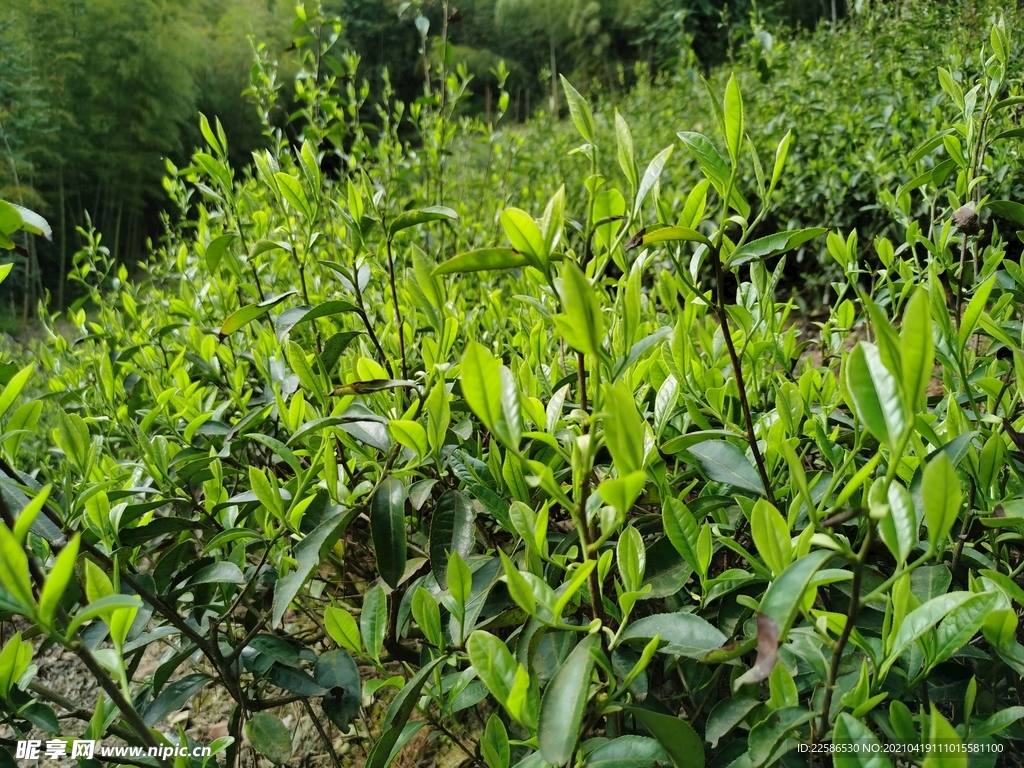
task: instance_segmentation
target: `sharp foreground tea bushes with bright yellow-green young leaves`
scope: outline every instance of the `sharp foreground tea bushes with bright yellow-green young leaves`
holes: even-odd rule
[[[776,226],[793,158],[828,150],[765,153],[736,78],[678,126],[701,180],[671,193],[670,151],[563,83],[581,183],[511,206],[529,137],[460,119],[465,77],[385,91],[368,136],[357,61],[324,77],[338,28],[300,13],[301,141],[267,125],[237,174],[204,119],[142,279],[87,233],[74,339],[8,372],[8,734],[184,743],[166,718],[210,688],[229,735],[175,765],[295,764],[286,713],[372,768],[413,739],[488,768],[1011,762],[1013,28],[938,71],[864,243]],[[264,114],[276,87],[262,58]],[[0,244],[26,221],[0,207]],[[814,243],[810,324],[778,294]],[[96,701],[36,680],[54,646]]]

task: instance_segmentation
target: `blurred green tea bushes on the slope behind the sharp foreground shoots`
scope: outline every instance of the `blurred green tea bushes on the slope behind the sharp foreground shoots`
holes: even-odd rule
[[[937,68],[968,81],[984,74],[981,43],[988,27],[980,22],[992,7],[919,3],[900,14],[889,9],[854,15],[850,26],[823,25],[797,36],[766,37],[755,18],[753,47],[739,51],[734,70],[713,72],[709,80],[720,93],[734,71],[746,94],[748,132],[762,155],[773,153],[793,131],[781,191],[760,233],[770,233],[773,226],[856,228],[865,258],[878,264],[871,245],[876,238],[902,238],[909,220],[927,219],[930,199],[909,196],[897,206],[888,196],[897,195],[903,184],[921,182],[926,169],[907,161],[926,139],[947,127],[942,104],[946,96],[936,87]],[[641,78],[640,86],[613,108],[629,123],[638,157],[644,158],[676,142],[681,127],[701,131],[715,121],[705,85],[693,70],[653,84]],[[596,116],[599,143],[610,146],[612,104],[604,112]],[[1019,115],[1005,114],[999,122],[1015,127]],[[528,140],[531,147],[543,147],[522,154],[536,160],[523,168],[521,184],[532,193],[536,205],[543,206],[562,179],[568,179],[567,189],[583,189],[586,171],[579,164],[559,162],[557,174],[547,172],[574,146],[570,128],[552,132],[544,126],[530,132]],[[944,160],[936,158],[935,164]],[[947,168],[940,165],[939,172]],[[606,172],[625,183],[616,169]],[[990,148],[988,176],[991,193],[999,198],[1017,200],[1024,194],[1017,142]],[[686,194],[701,178],[686,153],[673,155],[662,187],[663,204],[675,213],[666,211],[665,220],[678,215]],[[754,195],[754,169],[741,168],[737,183]],[[1012,246],[1014,255],[1018,248]],[[802,310],[813,312],[835,299],[830,284],[841,276],[824,243],[812,241],[790,259],[781,287]]]

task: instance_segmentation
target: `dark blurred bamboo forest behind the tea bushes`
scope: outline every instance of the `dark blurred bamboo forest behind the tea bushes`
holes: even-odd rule
[[[0,4],[0,198],[39,211],[53,228],[51,242],[33,241],[15,255],[0,293],[0,329],[22,328],[47,294],[54,309],[74,299],[67,274],[82,245],[78,227],[91,222],[119,263],[144,258],[147,241],[163,231],[166,163],[185,165],[202,143],[200,112],[221,121],[237,170],[251,162],[267,141],[245,95],[256,41],[280,61],[284,87],[271,118],[288,123],[298,67],[293,5]],[[811,30],[847,13],[842,0],[462,0],[447,7],[445,19],[440,0],[326,0],[325,14],[343,19],[328,63],[343,75],[353,68],[353,83],[369,88],[368,104],[385,83],[411,103],[424,96],[424,63],[441,55],[446,26],[446,56],[472,77],[460,114],[489,122],[504,62],[505,122],[518,126],[550,116],[552,69],[590,96],[616,102],[638,77],[691,83],[749,43],[767,52],[765,29]],[[358,58],[346,61],[347,52]],[[564,117],[564,100],[558,108]],[[366,121],[376,118],[366,110]]]

